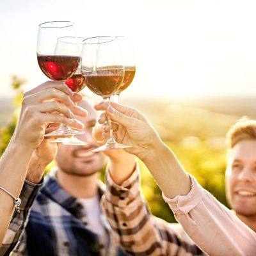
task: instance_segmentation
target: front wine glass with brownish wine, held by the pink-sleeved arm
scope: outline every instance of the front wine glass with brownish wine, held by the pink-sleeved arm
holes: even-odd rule
[[[124,79],[124,65],[118,40],[115,36],[96,36],[83,41],[81,55],[82,75],[86,86],[110,104],[111,95]],[[109,138],[94,152],[131,147],[115,141],[108,118]]]

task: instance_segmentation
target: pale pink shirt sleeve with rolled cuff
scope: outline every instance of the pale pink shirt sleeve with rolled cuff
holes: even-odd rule
[[[209,255],[256,255],[256,233],[190,178],[188,195],[163,195],[189,237]]]

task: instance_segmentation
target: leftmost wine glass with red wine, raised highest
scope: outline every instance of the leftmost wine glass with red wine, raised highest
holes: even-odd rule
[[[50,21],[39,25],[37,38],[37,61],[45,76],[54,81],[65,81],[73,76],[81,60],[81,48],[78,44],[61,47],[57,50],[58,38],[74,36],[74,23],[70,21]],[[69,129],[67,125],[60,125],[56,131],[45,136],[70,136],[81,134],[81,131]],[[61,139],[61,138],[60,138]]]

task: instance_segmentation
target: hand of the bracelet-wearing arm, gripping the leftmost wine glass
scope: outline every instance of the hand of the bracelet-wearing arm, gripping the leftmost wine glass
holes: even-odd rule
[[[45,132],[58,128],[55,125],[58,122],[83,129],[84,125],[75,120],[74,115],[86,116],[87,113],[84,109],[72,106],[73,100],[76,102],[81,99],[81,95],[77,93],[71,95],[68,87],[60,82],[47,81],[26,92],[22,100],[15,137],[21,144],[31,144],[31,147],[36,148],[44,140]]]

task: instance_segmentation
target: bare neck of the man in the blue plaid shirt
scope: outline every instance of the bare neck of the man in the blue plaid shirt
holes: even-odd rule
[[[60,186],[76,198],[92,198],[97,195],[98,176],[99,173],[81,177],[65,173],[62,170],[58,170],[57,172],[57,180]]]

